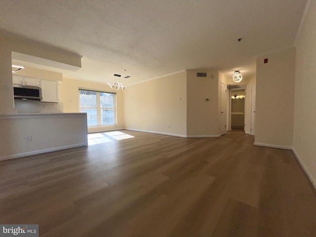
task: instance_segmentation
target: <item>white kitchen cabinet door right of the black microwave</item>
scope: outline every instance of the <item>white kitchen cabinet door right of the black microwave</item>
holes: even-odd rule
[[[41,102],[59,102],[58,81],[40,80]]]

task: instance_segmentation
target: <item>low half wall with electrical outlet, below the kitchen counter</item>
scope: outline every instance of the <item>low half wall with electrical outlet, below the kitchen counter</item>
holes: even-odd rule
[[[87,145],[86,114],[0,115],[0,131],[0,160]]]

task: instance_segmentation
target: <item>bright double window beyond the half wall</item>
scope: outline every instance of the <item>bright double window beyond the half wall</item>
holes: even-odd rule
[[[80,113],[87,113],[88,126],[116,124],[115,93],[79,89]]]

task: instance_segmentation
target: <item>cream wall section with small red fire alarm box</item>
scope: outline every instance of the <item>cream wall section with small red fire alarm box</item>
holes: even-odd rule
[[[294,47],[257,58],[255,145],[292,148],[294,76]]]

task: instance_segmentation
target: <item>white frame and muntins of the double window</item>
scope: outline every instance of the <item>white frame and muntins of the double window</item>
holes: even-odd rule
[[[96,102],[97,102],[97,107],[80,107],[80,91],[91,91],[96,93]],[[114,95],[114,100],[113,100],[113,108],[101,108],[101,100],[100,100],[100,93],[108,93],[108,94],[113,94]],[[79,111],[81,109],[96,109],[97,110],[97,124],[96,125],[88,125],[88,127],[100,127],[100,126],[115,126],[118,125],[117,122],[117,93],[116,92],[108,92],[108,91],[100,91],[100,90],[93,90],[93,89],[86,89],[86,88],[79,88]],[[114,123],[109,123],[109,124],[101,124],[101,111],[104,109],[113,109],[114,113]]]

